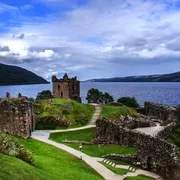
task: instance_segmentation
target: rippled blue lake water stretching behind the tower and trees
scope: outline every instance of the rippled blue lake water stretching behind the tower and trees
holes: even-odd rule
[[[22,95],[35,98],[42,90],[51,90],[51,84],[22,85],[22,86],[0,86],[0,97],[6,92],[11,96]],[[121,96],[134,96],[143,105],[144,101],[153,101],[169,105],[180,104],[180,83],[95,83],[81,82],[81,98],[85,101],[87,91],[90,88],[97,88],[108,92],[117,100]]]

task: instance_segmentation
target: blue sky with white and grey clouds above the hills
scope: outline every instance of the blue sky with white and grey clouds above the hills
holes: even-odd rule
[[[180,71],[180,1],[0,0],[0,63],[46,79]]]

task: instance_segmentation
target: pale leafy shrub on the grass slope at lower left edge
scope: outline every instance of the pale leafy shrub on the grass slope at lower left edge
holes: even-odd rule
[[[0,153],[14,156],[31,165],[34,165],[34,158],[30,152],[19,144],[11,135],[0,133]]]

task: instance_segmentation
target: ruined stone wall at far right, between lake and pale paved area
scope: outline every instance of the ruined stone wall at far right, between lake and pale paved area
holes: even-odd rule
[[[145,102],[144,109],[146,116],[155,116],[162,121],[167,121],[167,123],[177,120],[177,110],[171,106]]]

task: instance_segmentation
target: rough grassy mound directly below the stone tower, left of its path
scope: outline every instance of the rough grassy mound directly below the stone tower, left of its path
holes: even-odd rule
[[[53,99],[54,103],[67,104],[67,99]],[[78,127],[86,125],[94,113],[94,107],[88,104],[81,104],[73,101],[73,108],[65,108],[48,104],[48,100],[42,100],[35,105],[37,121],[42,117],[54,116],[60,119],[66,119],[70,123],[70,127]],[[45,129],[58,129],[55,126],[47,125]],[[43,129],[43,127],[37,127]]]

